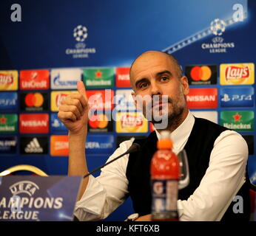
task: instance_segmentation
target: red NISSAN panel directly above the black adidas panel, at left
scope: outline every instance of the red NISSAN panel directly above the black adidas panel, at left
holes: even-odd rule
[[[49,114],[20,114],[20,133],[48,133]]]

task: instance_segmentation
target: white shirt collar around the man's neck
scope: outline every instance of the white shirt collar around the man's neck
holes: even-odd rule
[[[189,139],[189,135],[192,131],[194,123],[195,117],[189,111],[188,115],[186,116],[186,119],[183,120],[181,125],[179,125],[178,128],[175,129],[175,131],[172,131],[171,139],[173,142],[174,151],[180,151],[186,145],[186,141]],[[160,133],[158,131],[155,132],[158,139],[160,139]]]

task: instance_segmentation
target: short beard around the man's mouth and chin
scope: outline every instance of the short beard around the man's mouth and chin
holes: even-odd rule
[[[154,105],[157,106],[154,107]],[[169,108],[169,106],[172,106],[172,108]],[[163,100],[159,97],[158,100],[152,102],[152,104],[144,106],[143,114],[147,120],[152,122],[155,129],[164,130],[177,128],[181,122],[183,111],[183,105],[178,106],[177,103],[174,103],[169,97]]]

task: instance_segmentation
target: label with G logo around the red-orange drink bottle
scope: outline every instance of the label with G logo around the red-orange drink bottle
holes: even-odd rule
[[[152,179],[152,213],[177,211],[178,181]]]

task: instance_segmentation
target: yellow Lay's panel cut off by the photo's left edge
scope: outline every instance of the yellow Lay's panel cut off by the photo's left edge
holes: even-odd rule
[[[18,89],[18,71],[0,71],[0,90]]]

